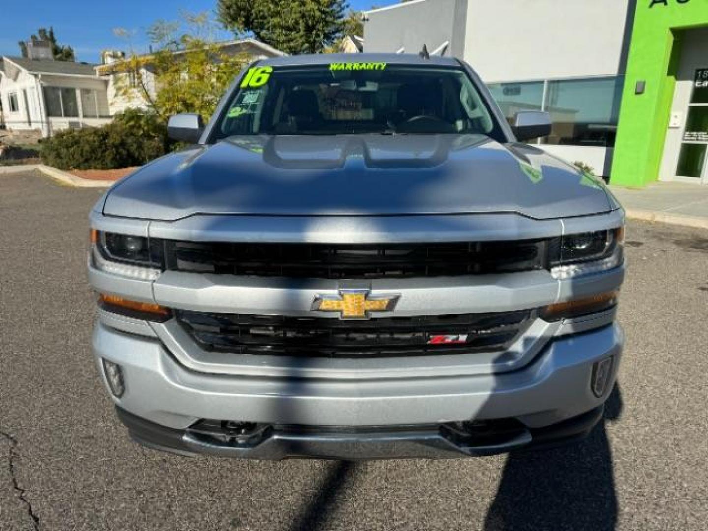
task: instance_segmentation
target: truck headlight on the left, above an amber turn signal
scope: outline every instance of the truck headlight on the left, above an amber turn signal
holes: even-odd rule
[[[163,269],[161,240],[91,231],[91,263],[105,273],[155,280]]]

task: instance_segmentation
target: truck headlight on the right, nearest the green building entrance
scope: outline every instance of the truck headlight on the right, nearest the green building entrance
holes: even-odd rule
[[[561,236],[551,251],[551,274],[564,279],[616,268],[623,243],[622,228]]]

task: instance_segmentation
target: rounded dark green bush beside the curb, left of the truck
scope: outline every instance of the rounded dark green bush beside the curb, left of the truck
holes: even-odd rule
[[[42,142],[42,161],[63,170],[110,170],[142,166],[169,148],[164,122],[154,113],[129,109],[103,127],[57,132]]]

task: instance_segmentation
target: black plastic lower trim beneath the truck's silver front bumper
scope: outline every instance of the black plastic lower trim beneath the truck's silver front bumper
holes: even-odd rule
[[[217,440],[193,430],[174,430],[116,408],[130,436],[142,445],[181,455],[218,455],[243,459],[278,460],[288,457],[319,459],[430,459],[494,455],[517,450],[537,450],[582,440],[603,416],[603,407],[540,429],[506,430],[496,437],[460,438],[441,426],[405,429],[281,430],[261,428],[258,440]]]

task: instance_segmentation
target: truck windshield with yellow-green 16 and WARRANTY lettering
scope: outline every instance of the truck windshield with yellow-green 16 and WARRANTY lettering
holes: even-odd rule
[[[233,135],[477,133],[503,140],[458,68],[350,62],[253,67],[215,127]]]

